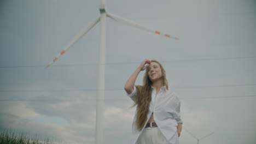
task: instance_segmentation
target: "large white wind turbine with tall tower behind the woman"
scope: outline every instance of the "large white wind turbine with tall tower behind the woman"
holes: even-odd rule
[[[153,32],[155,34],[164,35],[165,37],[179,40],[177,37],[172,37],[171,35],[155,31],[153,29],[139,25],[136,22],[126,20],[120,16],[116,16],[108,13],[106,9],[106,0],[101,0],[100,4],[101,16],[97,17],[95,20],[91,21],[87,27],[85,27],[74,39],[69,43],[65,49],[63,49],[54,59],[51,61],[46,68],[50,67],[61,55],[63,55],[74,43],[76,43],[84,34],[86,34],[92,27],[96,25],[97,22],[101,21],[101,31],[100,31],[100,55],[98,57],[98,80],[97,80],[97,101],[96,101],[96,138],[95,143],[101,144],[103,141],[103,107],[104,107],[104,83],[105,83],[105,23],[106,16],[111,19],[130,25],[144,31]]]

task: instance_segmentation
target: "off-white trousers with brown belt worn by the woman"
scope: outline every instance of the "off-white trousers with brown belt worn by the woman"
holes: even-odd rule
[[[138,144],[166,144],[166,138],[158,127],[145,128],[138,138]]]

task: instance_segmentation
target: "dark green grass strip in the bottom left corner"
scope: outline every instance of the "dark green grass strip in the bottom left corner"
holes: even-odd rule
[[[0,143],[1,144],[53,144],[60,142],[50,142],[49,139],[40,141],[38,136],[35,136],[33,139],[25,136],[23,133],[19,136],[16,136],[14,132],[3,131],[0,134]]]

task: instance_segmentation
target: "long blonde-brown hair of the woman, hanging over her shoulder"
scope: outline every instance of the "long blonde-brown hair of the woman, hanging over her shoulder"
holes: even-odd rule
[[[166,89],[168,89],[168,83],[167,83],[167,79],[166,79],[165,69],[156,60],[152,60],[151,62],[155,62],[160,65],[161,72],[162,72],[162,84],[166,87]],[[135,96],[135,104],[133,106],[137,105],[137,118],[136,118],[135,124],[137,126],[138,131],[141,131],[143,129],[144,124],[147,121],[149,104],[151,101],[152,81],[149,79],[148,71],[149,71],[149,69],[147,68],[146,72],[143,76],[143,85],[136,86],[136,88],[138,90],[137,90],[137,94]]]

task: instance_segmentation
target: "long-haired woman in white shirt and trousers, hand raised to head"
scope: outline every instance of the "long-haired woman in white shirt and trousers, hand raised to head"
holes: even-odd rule
[[[138,74],[146,69],[143,86],[135,86]],[[181,135],[181,101],[168,90],[166,72],[158,61],[145,59],[127,80],[124,87],[135,102],[132,144],[178,144]]]

